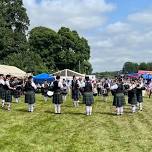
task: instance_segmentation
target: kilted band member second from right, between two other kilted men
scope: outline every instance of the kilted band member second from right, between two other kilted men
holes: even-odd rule
[[[134,80],[131,80],[129,90],[128,90],[128,103],[131,104],[132,113],[136,112],[137,108],[137,88]]]

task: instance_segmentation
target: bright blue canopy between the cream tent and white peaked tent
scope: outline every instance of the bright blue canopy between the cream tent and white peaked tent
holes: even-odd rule
[[[41,73],[33,77],[35,83],[43,83],[45,80],[48,82],[54,81],[55,78],[52,74]]]

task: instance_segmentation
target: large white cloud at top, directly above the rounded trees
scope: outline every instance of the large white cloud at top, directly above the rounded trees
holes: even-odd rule
[[[23,0],[31,19],[31,28],[44,25],[55,29],[68,26],[78,31],[100,27],[106,12],[115,6],[105,0]]]

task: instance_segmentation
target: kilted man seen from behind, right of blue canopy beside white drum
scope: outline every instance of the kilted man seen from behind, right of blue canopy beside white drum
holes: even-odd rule
[[[53,94],[53,104],[55,107],[55,114],[61,114],[61,104],[63,103],[62,99],[62,82],[60,82],[60,76],[56,76],[56,80],[52,83]]]

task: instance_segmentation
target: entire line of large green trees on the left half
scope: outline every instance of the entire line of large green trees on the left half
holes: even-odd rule
[[[77,31],[48,27],[28,31],[30,20],[22,0],[0,1],[0,63],[26,72],[55,72],[71,69],[90,74],[88,41]]]

